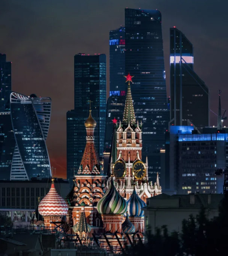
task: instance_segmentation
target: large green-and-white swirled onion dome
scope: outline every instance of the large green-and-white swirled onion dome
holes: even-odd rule
[[[123,214],[127,211],[127,202],[115,189],[113,177],[107,192],[98,201],[97,209],[100,214]]]

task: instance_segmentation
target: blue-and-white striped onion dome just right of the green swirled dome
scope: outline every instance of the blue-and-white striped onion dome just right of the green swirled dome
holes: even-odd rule
[[[127,211],[129,213],[129,216],[135,216],[135,217],[144,216],[144,210],[142,210],[142,207],[145,207],[145,206],[146,204],[137,195],[134,187],[132,195],[127,200]]]

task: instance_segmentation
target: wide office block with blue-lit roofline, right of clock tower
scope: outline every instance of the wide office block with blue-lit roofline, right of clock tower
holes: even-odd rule
[[[169,158],[164,175],[165,193],[216,194],[221,191],[215,172],[226,168],[228,162],[227,133],[198,134],[193,126],[170,126],[166,139]]]

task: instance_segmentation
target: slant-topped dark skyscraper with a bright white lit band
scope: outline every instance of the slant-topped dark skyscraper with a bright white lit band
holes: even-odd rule
[[[192,43],[176,27],[170,29],[170,93],[171,125],[210,125],[209,88],[193,71]]]

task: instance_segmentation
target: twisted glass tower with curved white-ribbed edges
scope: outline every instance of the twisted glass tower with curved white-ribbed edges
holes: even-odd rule
[[[30,180],[51,175],[46,148],[51,98],[10,94],[10,115],[15,137],[10,180]]]

